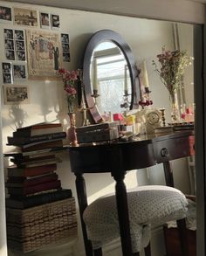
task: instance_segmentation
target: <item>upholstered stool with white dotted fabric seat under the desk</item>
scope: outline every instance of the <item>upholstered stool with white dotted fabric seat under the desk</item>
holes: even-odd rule
[[[185,218],[188,201],[180,190],[168,186],[140,186],[127,190],[131,243],[134,255],[149,246],[151,225]],[[83,215],[94,255],[100,247],[120,237],[115,195],[100,197],[86,207]],[[100,249],[100,250],[99,250]],[[150,250],[148,248],[148,253]]]

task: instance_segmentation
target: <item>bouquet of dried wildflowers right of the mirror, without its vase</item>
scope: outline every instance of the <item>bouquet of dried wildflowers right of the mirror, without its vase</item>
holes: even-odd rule
[[[165,47],[156,57],[159,65],[153,60],[154,71],[159,73],[161,82],[173,97],[175,89],[182,85],[182,75],[185,68],[192,64],[193,57],[189,57],[187,51],[167,51]]]

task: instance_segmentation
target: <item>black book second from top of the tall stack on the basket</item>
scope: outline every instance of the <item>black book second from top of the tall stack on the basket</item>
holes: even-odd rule
[[[65,132],[52,133],[47,135],[35,135],[31,137],[7,137],[8,145],[22,146],[25,144],[31,144],[35,142],[48,142],[52,140],[64,139]]]

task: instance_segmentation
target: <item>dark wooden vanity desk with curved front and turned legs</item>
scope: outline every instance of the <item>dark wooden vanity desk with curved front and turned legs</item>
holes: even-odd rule
[[[109,172],[116,182],[115,195],[120,223],[120,239],[124,256],[132,255],[127,213],[127,189],[124,178],[129,170],[144,169],[163,163],[166,184],[174,186],[169,161],[195,154],[193,130],[168,135],[137,137],[132,142],[100,142],[80,144],[69,148],[72,172],[76,176],[76,189],[84,236],[86,256],[92,256],[92,245],[86,236],[83,212],[87,206],[84,173]]]

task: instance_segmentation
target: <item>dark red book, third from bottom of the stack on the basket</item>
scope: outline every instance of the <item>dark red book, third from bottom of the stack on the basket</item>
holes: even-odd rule
[[[29,179],[15,176],[10,177],[5,183],[5,186],[7,188],[25,188],[40,183],[48,183],[56,180],[58,180],[58,175],[56,173],[45,174],[37,177],[35,176]]]

